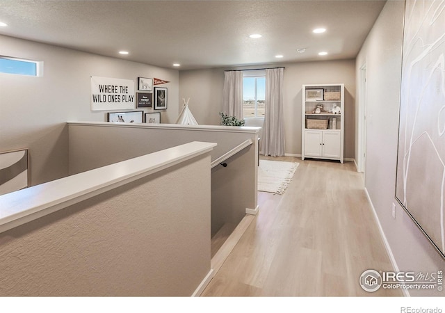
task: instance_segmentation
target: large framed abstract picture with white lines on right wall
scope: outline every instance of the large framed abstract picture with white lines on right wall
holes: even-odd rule
[[[445,259],[444,5],[428,5],[405,6],[396,199]]]

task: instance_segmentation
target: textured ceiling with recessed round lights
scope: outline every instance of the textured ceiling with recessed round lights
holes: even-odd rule
[[[384,0],[0,0],[0,22],[8,24],[0,34],[160,67],[180,63],[179,70],[280,64],[355,58],[384,5]],[[312,33],[321,26],[325,33]],[[263,37],[251,39],[252,33]],[[129,55],[120,56],[120,50]]]

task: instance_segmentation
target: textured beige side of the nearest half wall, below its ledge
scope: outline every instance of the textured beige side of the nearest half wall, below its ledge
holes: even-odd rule
[[[0,296],[191,296],[211,271],[209,169],[186,158],[2,232]]]

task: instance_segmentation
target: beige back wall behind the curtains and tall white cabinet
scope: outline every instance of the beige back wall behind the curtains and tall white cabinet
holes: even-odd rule
[[[275,67],[257,65],[253,68]],[[301,154],[301,89],[307,83],[344,83],[345,107],[345,157],[355,156],[355,60],[287,63],[284,65],[284,135],[286,154]],[[243,67],[248,69],[252,67]],[[197,122],[218,125],[218,112],[223,109],[223,84],[225,70],[240,67],[190,70],[179,72],[179,93],[190,97],[189,107]],[[254,125],[254,124],[250,124]],[[256,124],[255,124],[256,125]]]

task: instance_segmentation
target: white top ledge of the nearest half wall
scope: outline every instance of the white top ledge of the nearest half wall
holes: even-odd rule
[[[194,141],[0,195],[0,233],[211,152],[215,146]]]

